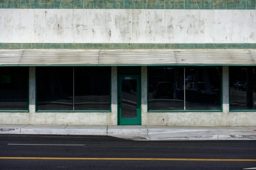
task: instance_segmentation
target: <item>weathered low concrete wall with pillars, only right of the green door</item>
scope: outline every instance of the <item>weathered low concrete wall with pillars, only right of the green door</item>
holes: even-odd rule
[[[147,72],[142,69],[142,80]],[[142,88],[146,88],[145,84]],[[142,112],[142,125],[161,126],[256,126],[255,112],[229,112],[229,67],[223,66],[223,112]],[[147,91],[142,89],[142,96]],[[145,99],[142,99],[145,103]],[[147,108],[145,104],[143,108]]]

